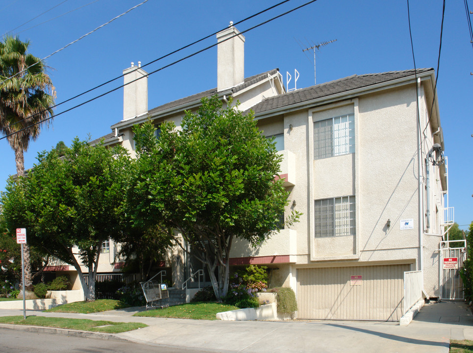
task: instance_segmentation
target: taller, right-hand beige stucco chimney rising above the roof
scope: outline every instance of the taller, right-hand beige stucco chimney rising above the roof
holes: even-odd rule
[[[222,91],[245,80],[245,37],[230,22],[217,33],[217,42],[217,90]]]

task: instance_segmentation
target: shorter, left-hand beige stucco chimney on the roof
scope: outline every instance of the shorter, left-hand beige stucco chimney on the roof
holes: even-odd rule
[[[148,112],[148,73],[141,67],[131,63],[131,67],[123,71],[123,120],[134,118]]]

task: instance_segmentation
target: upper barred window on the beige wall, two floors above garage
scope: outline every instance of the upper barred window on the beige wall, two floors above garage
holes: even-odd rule
[[[314,123],[314,159],[354,153],[354,151],[354,114]]]

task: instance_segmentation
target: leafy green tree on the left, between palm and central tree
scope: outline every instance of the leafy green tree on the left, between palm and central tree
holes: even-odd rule
[[[129,164],[122,147],[91,147],[75,139],[62,158],[55,149],[39,154],[28,177],[10,178],[2,195],[8,229],[26,225],[28,242],[74,265],[87,301],[95,299],[102,242],[121,237]],[[77,251],[89,269],[88,285]]]

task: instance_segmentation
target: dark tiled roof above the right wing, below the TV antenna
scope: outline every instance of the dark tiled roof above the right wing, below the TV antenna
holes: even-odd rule
[[[429,71],[433,71],[433,68],[429,69],[417,69],[417,74],[423,74]],[[282,95],[267,98],[254,106],[251,110],[254,114],[261,114],[270,110],[278,109],[281,107],[289,107],[305,101],[312,101],[319,98],[330,97],[335,94],[345,93],[352,90],[366,88],[379,83],[389,82],[397,80],[399,78],[409,77],[415,75],[414,70],[404,71],[389,71],[380,74],[366,74],[366,75],[353,75],[345,78],[340,78],[335,81],[321,83],[315,86],[302,88],[296,91],[284,93]]]

